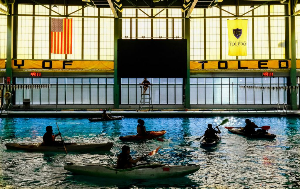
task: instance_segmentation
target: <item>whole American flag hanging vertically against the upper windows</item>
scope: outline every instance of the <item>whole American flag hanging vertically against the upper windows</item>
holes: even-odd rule
[[[72,19],[51,18],[51,53],[72,54]]]

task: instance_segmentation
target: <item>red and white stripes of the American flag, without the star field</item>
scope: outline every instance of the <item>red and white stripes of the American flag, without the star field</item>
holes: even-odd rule
[[[73,20],[64,18],[62,32],[51,32],[51,53],[72,54]]]

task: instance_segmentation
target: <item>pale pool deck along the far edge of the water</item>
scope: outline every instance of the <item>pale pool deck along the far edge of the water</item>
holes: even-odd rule
[[[101,117],[102,111],[2,111],[1,117]],[[300,116],[300,111],[287,110],[281,115],[276,110],[269,111],[111,111],[113,116],[128,117],[198,117],[198,116]],[[284,112],[285,113],[285,112]]]

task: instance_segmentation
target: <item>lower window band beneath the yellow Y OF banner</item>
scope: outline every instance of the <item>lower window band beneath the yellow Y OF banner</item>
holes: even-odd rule
[[[56,85],[57,84],[57,85]],[[16,104],[113,104],[113,78],[16,78]],[[58,99],[56,101],[56,95]]]

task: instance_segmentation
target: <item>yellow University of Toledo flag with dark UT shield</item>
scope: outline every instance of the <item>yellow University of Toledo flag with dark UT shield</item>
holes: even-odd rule
[[[247,19],[227,20],[229,56],[247,55]]]

